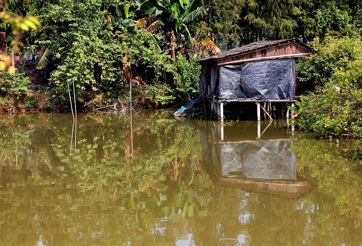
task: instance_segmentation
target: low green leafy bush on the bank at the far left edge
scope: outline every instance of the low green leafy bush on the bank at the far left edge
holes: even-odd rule
[[[0,92],[20,94],[29,92],[29,78],[23,73],[9,74],[7,71],[0,71]]]

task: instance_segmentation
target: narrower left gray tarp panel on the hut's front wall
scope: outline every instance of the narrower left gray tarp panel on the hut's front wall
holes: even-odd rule
[[[220,66],[216,97],[224,100],[236,99],[240,82],[241,64]]]

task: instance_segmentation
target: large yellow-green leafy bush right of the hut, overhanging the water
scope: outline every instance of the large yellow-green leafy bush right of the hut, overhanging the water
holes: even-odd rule
[[[361,137],[362,38],[329,38],[305,65],[319,70],[314,78],[323,86],[320,94],[311,93],[297,102],[299,126],[319,134],[350,132]]]

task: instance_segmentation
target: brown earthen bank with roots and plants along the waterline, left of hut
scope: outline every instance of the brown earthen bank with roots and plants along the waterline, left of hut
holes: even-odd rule
[[[19,93],[0,94],[0,112],[24,112],[24,111],[57,111],[70,112],[71,102],[69,94],[56,94],[49,87],[30,84],[29,91]],[[74,96],[71,91],[72,107]],[[132,85],[132,108],[162,108],[153,95],[149,94],[149,88],[142,84]],[[88,111],[120,111],[127,112],[130,108],[129,87],[113,92],[82,92],[75,95],[78,112]]]

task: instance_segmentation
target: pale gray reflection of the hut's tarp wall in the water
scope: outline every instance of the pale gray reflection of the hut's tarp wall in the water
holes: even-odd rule
[[[293,140],[221,143],[218,148],[222,177],[296,179]]]

